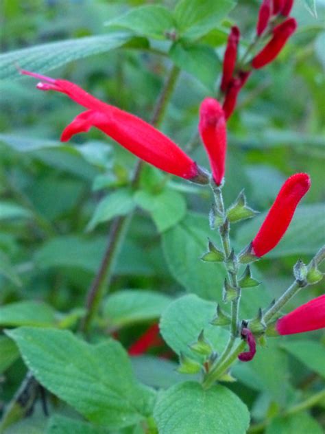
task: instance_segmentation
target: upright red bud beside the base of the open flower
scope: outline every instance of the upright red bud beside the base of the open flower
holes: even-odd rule
[[[213,179],[220,185],[225,173],[227,130],[224,110],[214,98],[206,98],[200,106],[199,131],[208,153]]]

